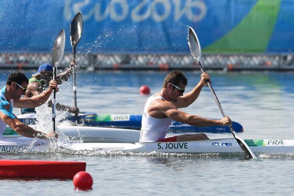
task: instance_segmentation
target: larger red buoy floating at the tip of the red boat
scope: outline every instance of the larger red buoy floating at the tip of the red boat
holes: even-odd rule
[[[88,172],[77,172],[73,177],[73,185],[77,189],[91,189],[93,178]]]

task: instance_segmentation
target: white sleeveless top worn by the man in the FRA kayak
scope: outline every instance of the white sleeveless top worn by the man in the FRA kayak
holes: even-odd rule
[[[169,126],[172,123],[172,119],[170,118],[156,119],[149,116],[147,109],[151,102],[155,99],[165,100],[165,98],[163,98],[162,96],[155,95],[152,95],[148,98],[144,107],[140,142],[157,142],[160,139],[164,139],[167,132],[169,131]]]

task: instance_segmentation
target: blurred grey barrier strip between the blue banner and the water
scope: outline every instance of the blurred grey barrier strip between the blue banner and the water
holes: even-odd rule
[[[175,70],[197,69],[191,55],[175,54],[77,54],[79,69],[86,70]],[[1,53],[0,69],[38,69],[51,63],[50,53]],[[65,54],[60,68],[73,59]],[[211,70],[294,70],[294,54],[203,54],[201,62]]]

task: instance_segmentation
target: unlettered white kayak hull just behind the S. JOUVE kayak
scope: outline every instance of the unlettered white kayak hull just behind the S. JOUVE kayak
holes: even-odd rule
[[[36,125],[29,125],[36,128]],[[8,129],[7,127],[6,129]],[[11,128],[10,128],[11,129]],[[36,128],[37,129],[37,128]],[[84,142],[111,142],[111,143],[135,143],[139,142],[140,131],[120,128],[91,127],[91,126],[57,126],[57,133],[62,132],[70,139],[82,139]],[[7,131],[8,132],[8,131]],[[14,131],[12,134],[4,133],[3,138],[22,137]]]

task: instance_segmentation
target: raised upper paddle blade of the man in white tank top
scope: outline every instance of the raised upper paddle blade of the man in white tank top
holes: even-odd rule
[[[188,45],[195,62],[199,63],[201,61],[201,47],[194,29],[190,26],[189,26]]]

